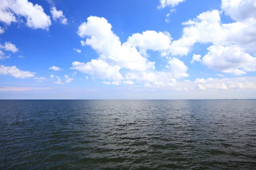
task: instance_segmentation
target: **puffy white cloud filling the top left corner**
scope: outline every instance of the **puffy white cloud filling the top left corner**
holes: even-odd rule
[[[28,2],[28,0],[1,0],[0,21],[10,25],[17,22],[16,16],[26,18],[26,25],[30,28],[46,29],[52,24],[50,17],[44,13],[42,6]]]

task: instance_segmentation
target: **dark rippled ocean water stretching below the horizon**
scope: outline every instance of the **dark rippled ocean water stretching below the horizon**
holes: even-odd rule
[[[0,170],[256,169],[256,100],[0,100]]]

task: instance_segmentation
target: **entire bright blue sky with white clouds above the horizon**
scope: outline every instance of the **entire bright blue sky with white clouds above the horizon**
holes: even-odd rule
[[[256,0],[0,0],[0,99],[256,98]]]

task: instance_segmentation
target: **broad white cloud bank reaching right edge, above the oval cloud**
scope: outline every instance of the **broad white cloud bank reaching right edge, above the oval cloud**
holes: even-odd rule
[[[256,20],[248,18],[243,22],[221,24],[218,10],[199,14],[195,19],[182,23],[183,35],[174,40],[166,52],[172,55],[187,55],[196,43],[211,42],[214,45],[233,45],[243,47],[246,51],[256,52]]]

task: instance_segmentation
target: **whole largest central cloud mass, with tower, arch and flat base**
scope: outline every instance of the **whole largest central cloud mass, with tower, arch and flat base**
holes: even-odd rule
[[[166,57],[168,68],[163,71],[155,71],[154,62],[148,60],[148,50],[159,51],[161,56],[166,56],[172,40],[168,32],[144,31],[142,34],[132,34],[122,44],[111,28],[105,18],[92,16],[87,18],[87,23],[79,26],[77,34],[82,38],[87,37],[81,41],[81,45],[90,45],[99,57],[87,63],[73,62],[71,69],[119,83],[123,80],[131,84],[135,80],[140,83],[152,82],[157,87],[174,85],[174,78],[189,76],[186,74],[186,65],[175,57]],[[122,70],[125,70],[124,77],[120,72]]]

